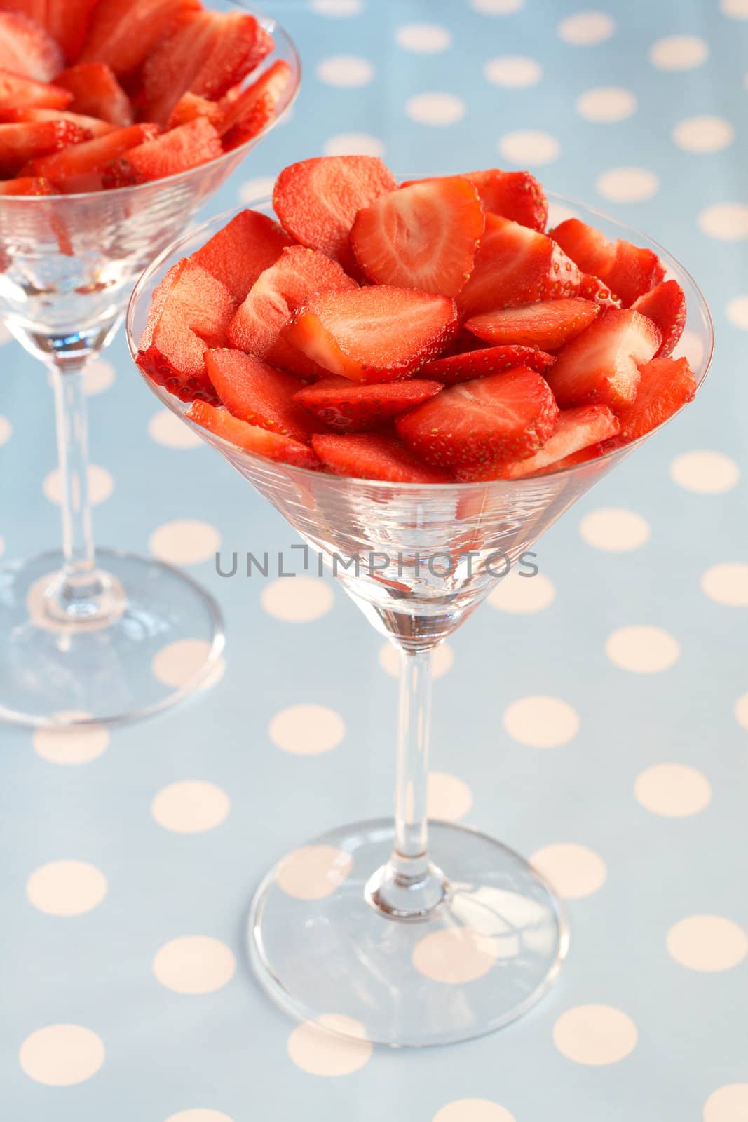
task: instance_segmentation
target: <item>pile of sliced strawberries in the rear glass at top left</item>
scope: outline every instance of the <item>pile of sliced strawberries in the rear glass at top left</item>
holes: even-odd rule
[[[274,47],[198,0],[0,0],[0,195],[132,186],[236,148],[290,81]]]

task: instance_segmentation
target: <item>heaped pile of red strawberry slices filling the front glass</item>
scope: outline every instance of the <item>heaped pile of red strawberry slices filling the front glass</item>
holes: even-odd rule
[[[303,160],[279,222],[242,211],[154,294],[138,364],[231,443],[394,482],[519,479],[662,424],[685,297],[657,256],[578,219],[545,233],[527,172],[397,185]]]

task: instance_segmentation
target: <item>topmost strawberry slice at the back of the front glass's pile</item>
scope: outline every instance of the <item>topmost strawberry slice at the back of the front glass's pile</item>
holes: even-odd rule
[[[317,156],[283,169],[273,205],[292,238],[352,268],[348,236],[353,219],[396,186],[391,172],[375,156]]]

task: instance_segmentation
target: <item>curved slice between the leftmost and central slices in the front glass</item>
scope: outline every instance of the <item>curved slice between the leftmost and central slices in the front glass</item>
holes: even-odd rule
[[[355,280],[324,254],[290,246],[249,289],[229,325],[229,342],[304,377],[315,370],[314,364],[280,338],[280,329],[311,293],[355,287]]]

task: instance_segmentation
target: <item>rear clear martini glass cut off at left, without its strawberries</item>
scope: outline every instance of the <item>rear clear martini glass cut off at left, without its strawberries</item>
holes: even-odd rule
[[[62,727],[141,717],[203,683],[223,647],[215,603],[184,573],[94,552],[84,373],[117,332],[135,279],[296,95],[292,40],[252,13],[276,44],[265,65],[283,58],[290,76],[274,120],[251,140],[135,187],[0,199],[0,318],[49,371],[63,523],[62,550],[0,568],[0,719]],[[166,646],[184,662],[178,684],[151,672]]]

